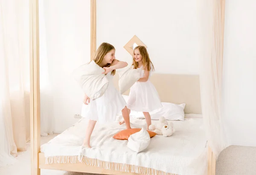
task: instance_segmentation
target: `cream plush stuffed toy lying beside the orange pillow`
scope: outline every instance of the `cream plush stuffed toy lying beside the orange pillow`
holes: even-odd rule
[[[175,132],[173,123],[168,124],[164,117],[160,117],[157,124],[151,124],[148,130],[153,131],[157,135],[163,135],[164,137],[169,137]]]

